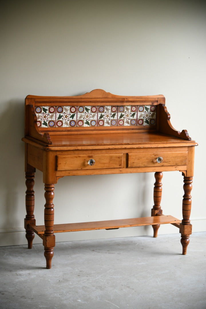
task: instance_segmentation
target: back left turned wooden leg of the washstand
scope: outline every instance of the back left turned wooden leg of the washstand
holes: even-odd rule
[[[24,219],[24,227],[26,230],[26,239],[28,241],[28,249],[32,249],[32,241],[34,239],[34,231],[31,230],[29,224],[36,225],[34,218],[34,175],[35,173],[26,172],[26,218]]]

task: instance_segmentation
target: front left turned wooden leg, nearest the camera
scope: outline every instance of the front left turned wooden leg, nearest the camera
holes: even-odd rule
[[[52,266],[52,258],[54,255],[53,249],[55,247],[55,235],[53,231],[54,225],[54,184],[45,184],[44,197],[46,204],[44,205],[44,225],[45,231],[43,235],[44,256],[46,258],[46,268],[50,269]]]

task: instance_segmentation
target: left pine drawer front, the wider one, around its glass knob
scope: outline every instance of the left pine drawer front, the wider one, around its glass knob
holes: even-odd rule
[[[95,160],[94,165],[89,165],[91,159]],[[123,154],[57,155],[57,171],[121,167],[123,167]]]

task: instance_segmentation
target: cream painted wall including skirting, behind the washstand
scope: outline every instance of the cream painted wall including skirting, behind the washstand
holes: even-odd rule
[[[26,243],[25,96],[80,95],[96,88],[117,95],[165,95],[174,128],[187,129],[199,142],[191,221],[193,231],[205,231],[204,1],[8,0],[0,14],[0,245]],[[62,178],[55,186],[55,223],[149,216],[153,183],[153,173]],[[182,186],[180,172],[164,173],[164,214],[182,218]],[[40,171],[35,192],[39,225]],[[169,225],[159,229],[159,234],[177,232]],[[57,241],[151,234],[150,226],[134,227],[58,234]],[[35,242],[41,239],[36,236]]]

